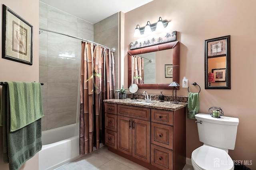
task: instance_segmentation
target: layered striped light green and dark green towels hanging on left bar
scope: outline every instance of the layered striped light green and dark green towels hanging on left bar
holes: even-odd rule
[[[42,149],[43,116],[40,83],[8,82],[2,87],[3,158],[9,170],[19,170]]]

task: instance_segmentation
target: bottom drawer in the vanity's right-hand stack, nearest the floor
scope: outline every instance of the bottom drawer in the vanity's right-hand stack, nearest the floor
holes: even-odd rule
[[[151,164],[163,170],[173,170],[172,150],[151,144]]]

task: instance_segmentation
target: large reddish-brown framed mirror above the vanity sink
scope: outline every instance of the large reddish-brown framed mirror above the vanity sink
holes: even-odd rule
[[[168,49],[172,49],[172,50],[166,51]],[[141,49],[128,51],[128,86],[134,83],[134,78],[141,79],[140,76],[137,76],[137,75],[134,76],[134,74],[132,74],[132,72],[134,71],[134,68],[132,67],[133,57],[136,55],[140,56],[142,54],[152,53],[156,51],[162,52],[161,53],[162,56],[163,54],[166,55],[166,52],[167,54],[169,53],[168,55],[172,56],[170,57],[170,63],[164,62],[161,68],[163,71],[160,73],[156,73],[157,74],[156,76],[158,75],[162,75],[163,77],[165,76],[165,67],[166,67],[165,64],[172,64],[172,73],[170,73],[170,75],[172,74],[172,76],[169,76],[168,83],[161,83],[158,80],[155,80],[155,83],[144,83],[143,81],[136,83],[138,85],[138,88],[140,89],[172,89],[171,87],[168,87],[170,83],[172,83],[173,81],[176,81],[178,84],[180,83],[180,42],[173,41],[169,43],[164,43],[164,44],[159,44],[159,45],[154,45],[150,47],[144,47]],[[162,58],[164,58],[164,56],[161,58],[161,55],[160,56],[155,55],[156,56],[155,61],[156,60],[160,61]],[[148,59],[145,59],[145,60],[148,61]]]

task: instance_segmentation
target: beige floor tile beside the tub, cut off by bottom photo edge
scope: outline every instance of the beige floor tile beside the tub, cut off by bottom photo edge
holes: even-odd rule
[[[87,162],[82,158],[78,158],[66,165],[63,165],[62,168],[65,170],[96,170],[97,168]]]

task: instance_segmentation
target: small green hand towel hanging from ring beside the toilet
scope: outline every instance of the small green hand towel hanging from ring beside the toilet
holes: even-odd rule
[[[196,119],[195,115],[199,111],[199,94],[189,93],[188,94],[188,118]]]

